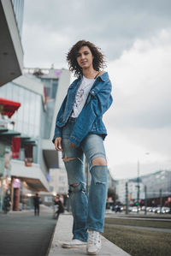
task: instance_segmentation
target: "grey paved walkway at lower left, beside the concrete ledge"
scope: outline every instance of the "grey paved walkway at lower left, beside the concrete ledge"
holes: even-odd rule
[[[39,217],[33,211],[0,214],[0,256],[47,255],[55,227],[52,211],[44,205]]]

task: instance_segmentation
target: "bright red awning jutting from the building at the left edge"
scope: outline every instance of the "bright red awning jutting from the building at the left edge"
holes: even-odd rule
[[[21,104],[6,98],[0,98],[0,113],[3,116],[13,116],[15,111],[20,108]]]

